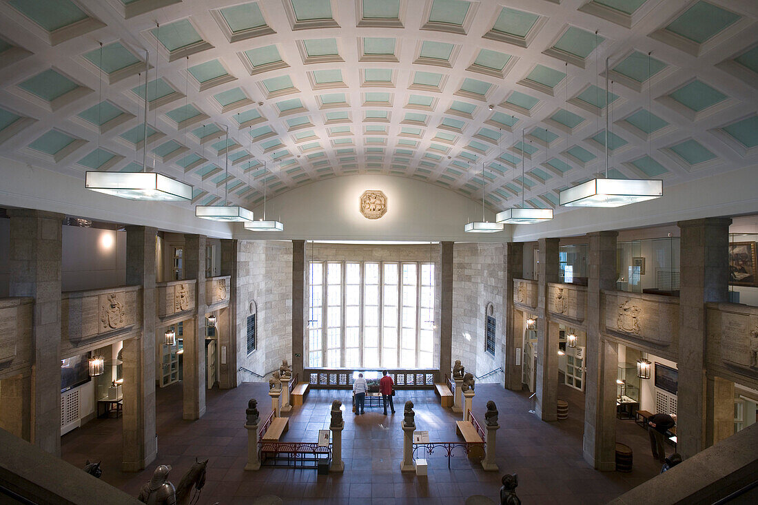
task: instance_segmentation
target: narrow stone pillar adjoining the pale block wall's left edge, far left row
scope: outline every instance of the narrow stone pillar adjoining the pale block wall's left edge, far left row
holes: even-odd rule
[[[221,389],[230,389],[237,385],[237,305],[245,303],[245,300],[238,300],[236,246],[236,240],[221,239],[221,275],[229,275],[231,278],[229,306],[224,311],[227,316],[227,331],[218,336],[218,354],[221,356],[218,365],[218,387]]]

